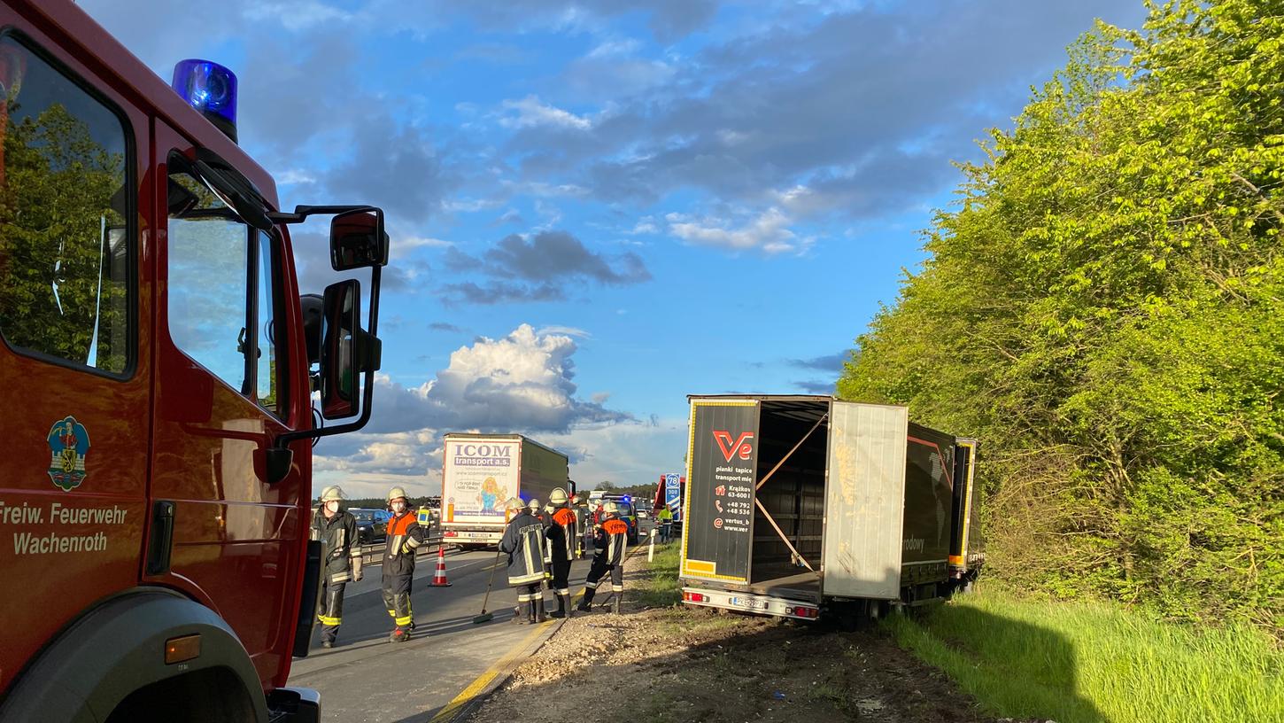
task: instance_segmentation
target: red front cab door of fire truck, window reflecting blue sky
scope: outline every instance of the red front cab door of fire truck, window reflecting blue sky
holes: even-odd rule
[[[186,163],[191,144],[157,123],[166,243],[157,258],[155,461],[152,501],[172,505],[168,566],[149,579],[218,611],[267,679],[286,650],[300,476],[262,475],[262,451],[284,429],[281,245],[249,227]],[[277,339],[277,329],[282,330]],[[277,342],[280,344],[277,344]],[[280,347],[280,348],[279,348]],[[164,551],[149,560],[164,562]]]

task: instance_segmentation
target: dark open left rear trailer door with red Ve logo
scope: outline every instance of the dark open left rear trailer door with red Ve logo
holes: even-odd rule
[[[759,403],[692,399],[682,577],[749,582]]]

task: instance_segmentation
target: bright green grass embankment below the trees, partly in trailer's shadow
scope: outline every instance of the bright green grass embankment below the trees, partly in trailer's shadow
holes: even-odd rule
[[[1260,631],[998,591],[887,622],[991,713],[1058,723],[1284,720],[1284,655]]]

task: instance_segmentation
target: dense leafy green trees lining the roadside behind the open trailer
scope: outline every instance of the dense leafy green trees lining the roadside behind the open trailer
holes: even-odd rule
[[[1284,4],[1099,26],[987,161],[838,392],[982,439],[993,568],[1284,627]]]

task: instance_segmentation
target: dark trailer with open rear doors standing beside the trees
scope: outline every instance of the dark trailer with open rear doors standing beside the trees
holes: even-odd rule
[[[864,618],[976,578],[975,440],[832,397],[690,401],[687,604]]]

